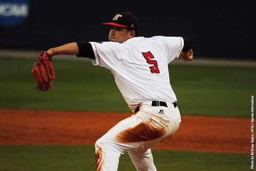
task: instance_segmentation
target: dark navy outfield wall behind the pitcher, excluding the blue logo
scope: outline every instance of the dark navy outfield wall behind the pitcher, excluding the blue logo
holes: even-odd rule
[[[255,0],[33,0],[21,23],[0,25],[0,48],[47,50],[72,41],[107,41],[110,28],[102,22],[123,11],[137,16],[140,36],[193,39],[195,56],[256,57]]]

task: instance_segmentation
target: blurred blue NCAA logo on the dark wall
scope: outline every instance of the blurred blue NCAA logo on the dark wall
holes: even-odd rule
[[[28,0],[0,0],[0,25],[13,27],[28,16]]]

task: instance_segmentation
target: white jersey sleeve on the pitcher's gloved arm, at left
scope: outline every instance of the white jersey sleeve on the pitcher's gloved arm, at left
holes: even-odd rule
[[[116,70],[128,49],[118,42],[90,42],[90,44],[95,55],[95,59],[91,59],[92,64],[110,71]]]

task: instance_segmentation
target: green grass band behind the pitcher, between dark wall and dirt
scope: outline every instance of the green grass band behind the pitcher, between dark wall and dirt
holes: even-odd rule
[[[56,78],[45,92],[31,76],[35,58],[0,58],[0,108],[130,112],[110,71],[70,58],[53,59]],[[182,115],[250,117],[255,67],[171,63],[169,70]]]

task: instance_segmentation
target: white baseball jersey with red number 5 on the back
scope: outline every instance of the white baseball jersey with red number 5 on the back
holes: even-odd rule
[[[181,37],[134,37],[118,42],[90,42],[94,65],[110,70],[127,105],[134,112],[148,100],[175,102],[168,64],[183,48]]]

